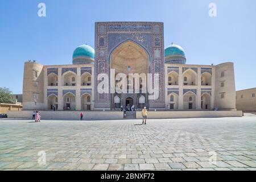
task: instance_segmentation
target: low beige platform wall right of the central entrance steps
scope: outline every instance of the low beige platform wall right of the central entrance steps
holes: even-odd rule
[[[242,111],[148,111],[148,119],[242,117]],[[136,118],[142,119],[141,111]]]

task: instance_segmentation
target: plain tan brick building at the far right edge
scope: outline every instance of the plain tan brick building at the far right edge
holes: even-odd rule
[[[239,90],[236,92],[236,106],[238,110],[256,112],[256,88]]]

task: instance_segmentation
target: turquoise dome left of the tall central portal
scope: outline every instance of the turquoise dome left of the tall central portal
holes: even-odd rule
[[[92,61],[94,61],[94,49],[88,45],[81,45],[73,52],[73,64],[84,64]]]

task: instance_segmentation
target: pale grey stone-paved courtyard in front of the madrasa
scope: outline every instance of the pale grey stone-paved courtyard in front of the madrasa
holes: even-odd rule
[[[0,169],[256,169],[256,115],[150,119],[140,124],[0,119]],[[45,165],[38,163],[40,151],[46,152]],[[214,154],[217,162],[209,163]]]

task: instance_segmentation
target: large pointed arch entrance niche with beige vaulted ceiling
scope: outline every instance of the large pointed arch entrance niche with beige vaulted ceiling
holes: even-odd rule
[[[115,69],[115,76],[117,76],[118,73],[123,73],[126,75],[127,79],[127,89],[129,89],[129,93],[133,92],[133,98],[128,97],[125,98],[124,93],[121,94],[121,98],[125,98],[122,102],[125,104],[125,106],[129,105],[130,107],[135,105],[136,107],[139,107],[139,96],[141,96],[142,90],[145,92],[147,90],[146,84],[143,83],[143,85],[139,82],[141,79],[138,80],[138,82],[135,82],[135,78],[129,79],[129,74],[138,73],[145,74],[147,76],[147,73],[149,73],[150,68],[150,55],[139,44],[133,42],[132,40],[127,40],[120,44],[118,47],[116,47],[112,53],[109,56],[109,64],[110,69]],[[142,78],[142,77],[141,77]],[[146,82],[147,78],[142,80]],[[115,85],[117,86],[118,82],[120,80],[115,80]],[[135,93],[135,84],[138,85],[139,93]],[[143,88],[141,88],[141,85]],[[117,93],[112,93],[113,96],[111,105],[112,108],[115,108],[115,97],[114,95]],[[147,99],[146,99],[147,102]],[[146,104],[146,103],[144,103]]]

